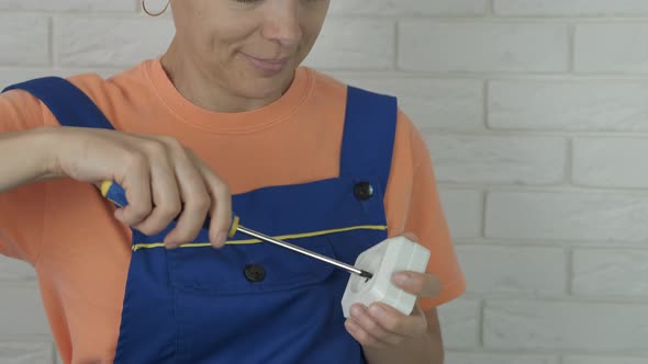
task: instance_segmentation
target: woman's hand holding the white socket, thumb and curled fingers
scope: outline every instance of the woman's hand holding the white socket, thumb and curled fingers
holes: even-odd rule
[[[440,292],[439,281],[429,273],[398,272],[393,274],[392,282],[416,297],[435,297]],[[369,307],[356,304],[350,312],[345,327],[364,348],[382,350],[398,346],[409,339],[426,334],[428,329],[425,312],[418,304],[410,316],[382,303]]]

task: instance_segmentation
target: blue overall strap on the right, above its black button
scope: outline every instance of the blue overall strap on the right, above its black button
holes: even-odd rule
[[[396,118],[395,98],[348,87],[340,177],[376,175],[387,186]]]

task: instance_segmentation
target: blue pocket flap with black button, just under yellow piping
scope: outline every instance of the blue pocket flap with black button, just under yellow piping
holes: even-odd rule
[[[326,257],[328,237],[295,239],[293,244]],[[294,289],[324,281],[335,269],[313,258],[267,242],[179,248],[168,252],[172,287],[208,296],[245,295]]]

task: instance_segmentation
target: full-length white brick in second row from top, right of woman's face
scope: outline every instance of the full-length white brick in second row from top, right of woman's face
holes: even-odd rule
[[[399,24],[399,68],[438,72],[566,71],[568,45],[568,27],[560,24],[403,21]]]

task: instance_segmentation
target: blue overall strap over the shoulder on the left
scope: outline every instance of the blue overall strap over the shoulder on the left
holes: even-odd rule
[[[40,99],[62,126],[114,129],[105,115],[83,91],[59,77],[45,77],[8,87]]]

